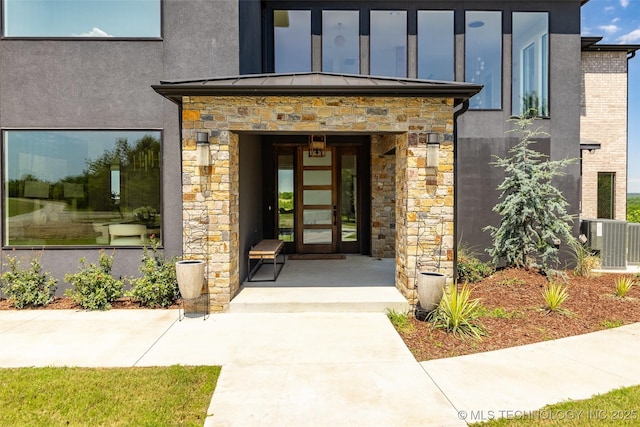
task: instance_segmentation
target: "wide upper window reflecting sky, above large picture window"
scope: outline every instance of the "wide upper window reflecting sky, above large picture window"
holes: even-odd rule
[[[161,0],[4,0],[5,37],[159,38]]]

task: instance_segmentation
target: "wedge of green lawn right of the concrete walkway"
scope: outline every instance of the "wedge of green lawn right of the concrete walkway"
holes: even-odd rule
[[[637,426],[640,425],[640,386],[620,388],[591,399],[545,406],[530,414],[514,413],[513,419],[495,419],[474,426]],[[508,414],[509,411],[504,411]],[[499,414],[494,413],[498,416]],[[485,414],[487,416],[487,414]]]

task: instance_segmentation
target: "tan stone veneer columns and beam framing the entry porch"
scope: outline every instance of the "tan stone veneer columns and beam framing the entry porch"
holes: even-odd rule
[[[391,252],[388,236],[395,221],[396,287],[412,304],[417,268],[439,264],[441,271],[453,273],[452,99],[192,96],[183,98],[182,129],[184,256],[207,260],[212,311],[228,308],[239,289],[239,262],[245,256],[239,253],[237,132],[367,134],[372,157],[395,146],[395,156],[380,164],[372,161],[372,174],[395,174],[394,195],[389,176],[382,189],[372,186],[372,198],[382,200],[372,202],[372,211],[380,208],[379,225],[388,224],[372,236],[383,242],[383,253]],[[196,132],[210,135],[210,167],[195,166]],[[438,168],[425,164],[429,132],[443,140]],[[395,219],[384,214],[392,200]],[[373,232],[377,226],[372,225]]]

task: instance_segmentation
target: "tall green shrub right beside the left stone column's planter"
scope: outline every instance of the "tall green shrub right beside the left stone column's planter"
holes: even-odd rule
[[[151,239],[151,249],[145,247],[142,253],[142,277],[130,279],[132,288],[126,295],[147,307],[170,306],[179,296],[175,263],[176,259],[164,258],[158,252],[158,241]]]

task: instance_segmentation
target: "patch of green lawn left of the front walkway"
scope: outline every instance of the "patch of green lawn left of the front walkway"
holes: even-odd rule
[[[218,366],[0,369],[0,426],[202,426]]]

